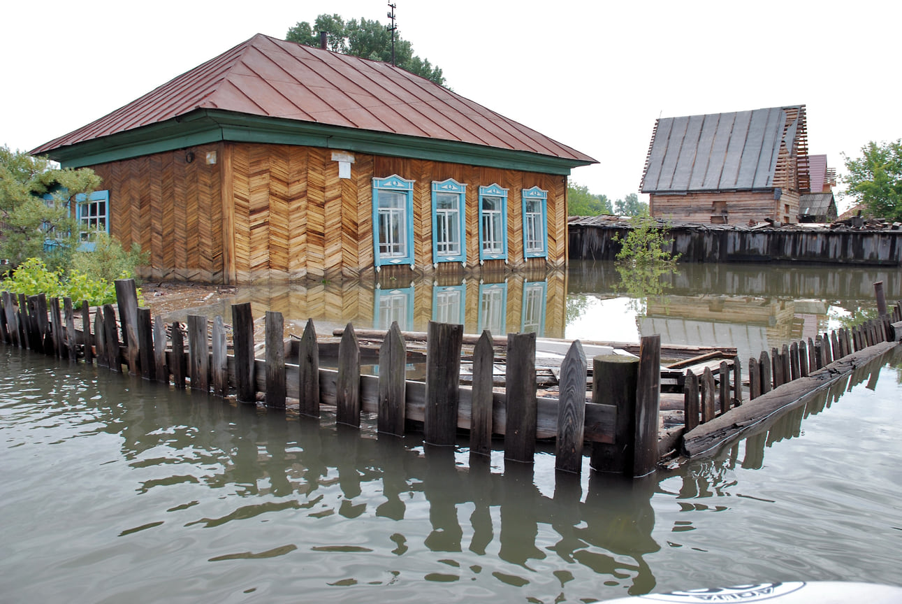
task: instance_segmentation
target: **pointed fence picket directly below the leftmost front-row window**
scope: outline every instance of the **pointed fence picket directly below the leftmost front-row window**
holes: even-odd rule
[[[379,413],[377,430],[382,434],[404,435],[407,419],[407,347],[400,335],[398,321],[391,328],[379,348]]]

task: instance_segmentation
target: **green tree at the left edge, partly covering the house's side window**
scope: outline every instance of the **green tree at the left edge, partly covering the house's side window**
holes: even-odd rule
[[[51,270],[67,268],[80,241],[72,204],[99,186],[93,170],[60,170],[0,147],[0,258],[13,267],[40,258]]]

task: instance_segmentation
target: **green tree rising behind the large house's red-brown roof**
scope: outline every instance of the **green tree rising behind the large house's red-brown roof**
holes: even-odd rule
[[[307,21],[301,21],[291,27],[285,34],[285,39],[308,46],[319,46],[320,32],[328,34],[327,48],[330,51],[391,62],[391,32],[382,23],[369,19],[351,19],[345,22],[338,14],[320,14],[312,26]],[[395,64],[402,70],[445,86],[442,70],[416,56],[413,46],[403,40],[398,31],[395,31],[394,55]]]

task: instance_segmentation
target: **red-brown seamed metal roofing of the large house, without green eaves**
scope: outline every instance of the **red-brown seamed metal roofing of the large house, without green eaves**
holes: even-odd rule
[[[596,163],[584,153],[390,64],[258,33],[32,153],[222,109]]]

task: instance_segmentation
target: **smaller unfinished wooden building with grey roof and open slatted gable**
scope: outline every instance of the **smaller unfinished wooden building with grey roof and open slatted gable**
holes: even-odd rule
[[[805,106],[658,119],[641,190],[656,218],[798,221],[809,192]]]

